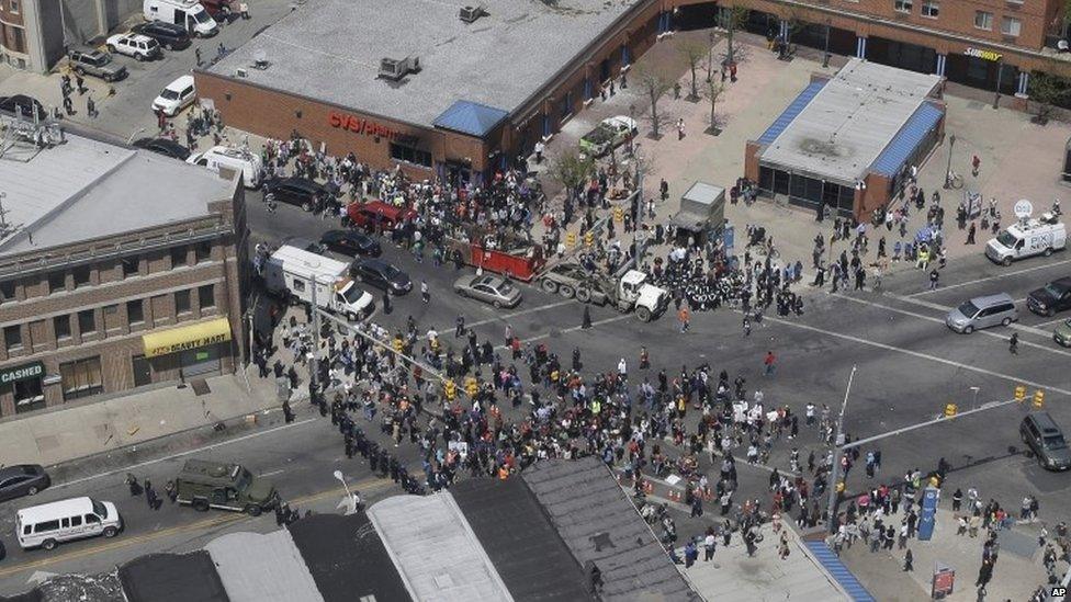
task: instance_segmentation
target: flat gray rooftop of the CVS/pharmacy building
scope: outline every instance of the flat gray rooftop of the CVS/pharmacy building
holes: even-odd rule
[[[318,0],[298,7],[208,69],[258,86],[430,126],[455,100],[514,112],[641,0]],[[420,59],[398,83],[380,59]],[[251,68],[259,59],[268,69]]]

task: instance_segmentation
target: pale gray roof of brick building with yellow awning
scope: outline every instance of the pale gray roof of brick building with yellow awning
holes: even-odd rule
[[[70,133],[40,151],[15,146],[0,157],[10,226],[0,231],[0,257],[205,216],[236,185],[204,168]]]

